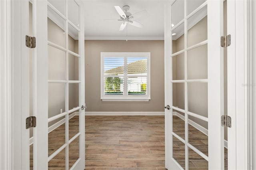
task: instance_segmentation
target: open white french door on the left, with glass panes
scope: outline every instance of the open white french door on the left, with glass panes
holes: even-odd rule
[[[33,169],[85,167],[84,16],[76,0],[32,1]]]

